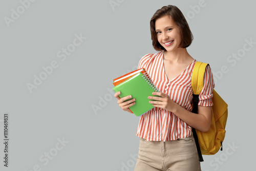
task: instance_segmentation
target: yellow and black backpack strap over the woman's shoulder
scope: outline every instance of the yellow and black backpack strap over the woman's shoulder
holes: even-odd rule
[[[205,69],[206,66],[208,65],[208,63],[203,63],[203,62],[199,62],[197,61],[195,63],[193,72],[192,72],[192,76],[191,76],[191,87],[193,90],[193,113],[198,114],[198,102],[199,102],[199,94],[201,93],[203,87],[204,87],[204,73],[205,73]],[[202,153],[201,153],[201,149],[200,149],[200,145],[198,142],[198,137],[197,137],[197,132],[196,129],[194,129],[194,127],[192,128],[192,132],[193,132],[193,136],[197,145],[197,151],[198,151],[198,156],[199,156],[199,161],[202,162],[204,161]]]

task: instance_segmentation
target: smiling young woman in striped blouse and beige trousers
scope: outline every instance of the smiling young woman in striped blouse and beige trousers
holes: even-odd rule
[[[161,92],[153,93],[160,97],[148,96],[155,108],[140,116],[135,170],[201,170],[191,127],[202,132],[210,127],[215,87],[211,69],[206,67],[198,114],[191,113],[191,74],[196,59],[186,50],[193,40],[186,19],[176,6],[169,5],[156,11],[150,26],[153,47],[160,52],[143,56],[138,68],[146,69]],[[115,94],[119,106],[130,112],[136,99],[125,101],[132,97],[120,98],[120,93]]]

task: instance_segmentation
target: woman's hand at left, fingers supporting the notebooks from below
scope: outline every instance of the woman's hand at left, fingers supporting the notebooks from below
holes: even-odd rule
[[[117,103],[119,104],[120,108],[122,108],[123,111],[127,111],[132,113],[132,111],[129,109],[132,105],[135,104],[135,98],[128,100],[130,98],[132,98],[132,96],[125,96],[120,98],[119,95],[121,94],[121,92],[117,92],[115,93],[115,98],[117,98]],[[128,101],[125,101],[128,100]]]

